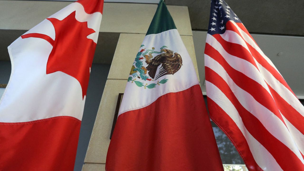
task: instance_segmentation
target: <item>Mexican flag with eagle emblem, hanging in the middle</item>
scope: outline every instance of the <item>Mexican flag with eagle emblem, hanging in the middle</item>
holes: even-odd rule
[[[223,170],[195,68],[163,0],[131,66],[105,167]]]

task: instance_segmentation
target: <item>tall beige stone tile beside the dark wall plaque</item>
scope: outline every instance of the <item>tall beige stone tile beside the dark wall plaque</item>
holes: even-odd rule
[[[85,163],[105,163],[118,94],[123,93],[126,80],[107,80],[99,105]]]

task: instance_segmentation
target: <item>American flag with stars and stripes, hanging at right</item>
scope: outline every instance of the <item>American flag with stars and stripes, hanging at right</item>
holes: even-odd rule
[[[303,171],[304,107],[223,0],[211,1],[205,71],[210,117],[247,168]]]

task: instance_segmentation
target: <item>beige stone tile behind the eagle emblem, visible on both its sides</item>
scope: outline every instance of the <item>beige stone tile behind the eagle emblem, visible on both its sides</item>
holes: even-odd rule
[[[144,37],[145,34],[120,34],[108,79],[127,79],[129,77],[131,66]],[[181,39],[192,59],[196,74],[199,75],[192,36],[181,36]]]

